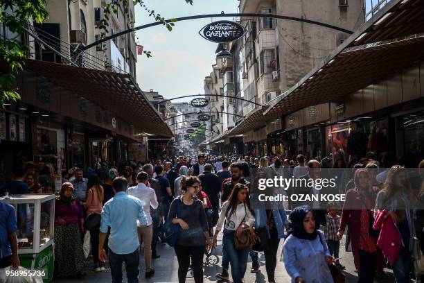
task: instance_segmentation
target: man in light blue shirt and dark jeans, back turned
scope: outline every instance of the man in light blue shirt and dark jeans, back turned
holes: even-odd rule
[[[112,282],[122,282],[122,263],[125,262],[128,283],[139,282],[139,235],[136,221],[142,226],[147,225],[147,218],[143,212],[143,203],[134,196],[127,194],[128,182],[123,177],[114,179],[115,196],[105,203],[100,222],[100,237],[98,243],[98,257],[105,262],[106,234],[109,236],[109,266],[112,273]]]

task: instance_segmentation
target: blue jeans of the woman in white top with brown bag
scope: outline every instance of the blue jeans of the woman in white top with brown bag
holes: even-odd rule
[[[247,267],[247,255],[249,249],[236,250],[234,248],[234,233],[236,231],[224,229],[224,251],[227,253],[227,258],[231,263],[231,276],[234,283],[241,283],[242,278],[245,277]]]

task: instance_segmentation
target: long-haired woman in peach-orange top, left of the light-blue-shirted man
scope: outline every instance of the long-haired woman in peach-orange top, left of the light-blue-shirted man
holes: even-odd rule
[[[98,225],[90,229],[91,254],[93,255],[94,271],[105,271],[105,265],[98,259],[98,235],[100,229],[100,215],[103,209],[105,191],[100,185],[100,178],[97,174],[90,174],[87,181],[87,192],[84,207],[87,209],[87,218],[97,217]],[[98,214],[99,216],[90,215]]]

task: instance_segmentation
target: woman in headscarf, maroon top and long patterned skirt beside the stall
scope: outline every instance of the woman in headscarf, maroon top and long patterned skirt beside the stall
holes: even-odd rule
[[[84,232],[84,214],[70,182],[62,184],[55,202],[55,275],[84,276],[84,252],[80,233]]]

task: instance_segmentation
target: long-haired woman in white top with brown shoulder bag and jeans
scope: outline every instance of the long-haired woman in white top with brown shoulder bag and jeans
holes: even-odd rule
[[[240,183],[235,185],[228,200],[222,205],[220,218],[215,228],[215,234],[213,234],[213,246],[216,246],[218,233],[222,229],[224,221],[222,242],[231,264],[231,276],[234,283],[241,283],[246,273],[249,248],[237,250],[234,245],[234,237],[240,235],[243,230],[251,228],[255,221],[250,211],[249,191],[245,185]]]

